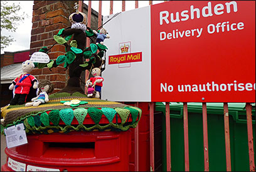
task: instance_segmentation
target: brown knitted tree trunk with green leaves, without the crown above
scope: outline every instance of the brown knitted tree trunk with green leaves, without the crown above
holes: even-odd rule
[[[87,28],[88,31],[82,31],[82,29],[60,29],[59,33],[56,36],[53,36],[56,43],[64,44],[66,49],[65,56],[59,56],[54,62],[53,65],[46,66],[48,68],[57,67],[58,64],[64,63],[65,68],[69,68],[69,79],[67,86],[59,93],[83,93],[83,89],[80,87],[80,79],[82,71],[92,68],[101,68],[102,64],[105,64],[105,60],[102,60],[104,53],[107,49],[106,46],[102,44],[90,44],[86,48],[87,37],[93,38],[96,37],[93,34],[92,29]],[[73,36],[72,41],[68,44],[68,38]],[[42,48],[41,51],[47,53],[49,49]],[[97,51],[99,50],[99,53]],[[51,61],[50,61],[51,63]],[[104,69],[102,69],[103,71]]]

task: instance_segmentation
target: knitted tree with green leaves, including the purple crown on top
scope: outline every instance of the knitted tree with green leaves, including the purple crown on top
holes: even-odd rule
[[[48,67],[51,69],[64,63],[64,68],[69,68],[68,75],[70,78],[68,79],[67,86],[61,89],[59,93],[74,93],[77,91],[83,93],[82,88],[80,88],[80,76],[82,71],[90,71],[92,68],[100,68],[101,71],[104,71],[102,65],[105,64],[105,60],[102,59],[102,57],[107,51],[107,47],[104,44],[94,43],[86,45],[87,37],[92,39],[93,37],[96,37],[96,34],[93,33],[92,29],[86,26],[86,14],[78,11],[77,8],[78,6],[76,5],[76,13],[70,14],[69,17],[72,26],[60,29],[58,34],[53,36],[53,39],[56,41],[55,44],[65,45],[65,54],[58,56],[58,58],[55,60],[50,60],[50,62],[47,64],[36,64],[38,68]],[[72,40],[70,40],[71,38]],[[53,46],[51,46],[51,48]],[[49,49],[43,47],[40,49],[40,51],[43,53],[48,53]]]

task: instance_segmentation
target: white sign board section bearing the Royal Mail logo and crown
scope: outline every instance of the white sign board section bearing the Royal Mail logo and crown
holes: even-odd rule
[[[104,22],[112,16],[105,16]],[[106,68],[102,73],[104,78],[102,99],[109,101],[150,100],[150,27],[149,6],[122,12],[104,25],[110,39],[104,41],[108,49]]]

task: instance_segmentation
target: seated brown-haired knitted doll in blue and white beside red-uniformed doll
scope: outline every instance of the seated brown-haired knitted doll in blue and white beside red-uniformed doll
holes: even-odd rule
[[[38,106],[41,103],[46,103],[49,101],[48,94],[53,91],[53,84],[46,79],[41,79],[38,88],[40,89],[41,93],[36,96],[36,98],[31,99],[32,102],[26,103],[25,106]]]

